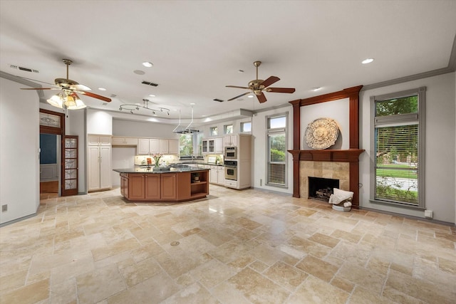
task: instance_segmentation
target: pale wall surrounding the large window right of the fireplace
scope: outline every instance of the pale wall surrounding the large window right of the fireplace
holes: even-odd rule
[[[424,217],[423,211],[373,204],[369,201],[371,189],[370,166],[375,159],[371,151],[371,106],[373,95],[400,92],[425,86],[425,206],[432,210],[433,219],[455,223],[456,199],[456,92],[455,73],[361,91],[361,138],[360,148],[366,150],[360,156],[360,206],[383,211]]]

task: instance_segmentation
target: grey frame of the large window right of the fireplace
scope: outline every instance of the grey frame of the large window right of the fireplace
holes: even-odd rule
[[[400,206],[408,209],[425,209],[425,92],[426,87],[403,90],[396,93],[371,96],[371,153],[375,154],[375,127],[418,125],[418,204],[411,204],[401,201],[388,201],[387,199],[376,199],[376,161],[373,155],[371,161],[371,195],[369,201],[373,204],[387,204]],[[401,115],[375,116],[376,102],[391,100],[394,98],[404,98],[408,96],[418,96],[418,112]]]

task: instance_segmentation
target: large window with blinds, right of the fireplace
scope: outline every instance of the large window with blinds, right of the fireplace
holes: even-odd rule
[[[371,97],[373,202],[425,207],[424,103],[425,88]]]

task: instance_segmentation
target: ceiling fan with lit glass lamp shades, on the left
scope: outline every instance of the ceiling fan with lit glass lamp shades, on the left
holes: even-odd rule
[[[89,96],[91,98],[97,98],[99,100],[103,100],[107,103],[109,103],[111,101],[110,98],[107,98],[105,96],[87,92],[88,90],[91,90],[88,86],[81,85],[81,84],[77,83],[75,80],[69,79],[68,78],[68,66],[71,65],[71,63],[73,63],[73,61],[71,61],[70,59],[63,59],[63,63],[66,64],[66,78],[56,78],[55,85],[53,85],[51,83],[47,83],[48,85],[53,85],[54,88],[21,88],[21,90],[63,90],[63,93],[65,93],[66,96],[71,96],[73,98],[78,98],[78,95],[76,95],[76,93],[81,93],[81,94]],[[26,79],[29,79],[29,78],[26,78]],[[31,79],[31,80],[33,80],[33,79]],[[43,81],[40,81],[40,80],[33,80],[33,81],[38,81],[40,83],[44,83]]]

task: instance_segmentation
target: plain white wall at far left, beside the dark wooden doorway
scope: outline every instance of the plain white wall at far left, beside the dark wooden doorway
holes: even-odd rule
[[[0,77],[0,224],[36,213],[39,199],[38,95]],[[0,209],[1,210],[1,209]]]

